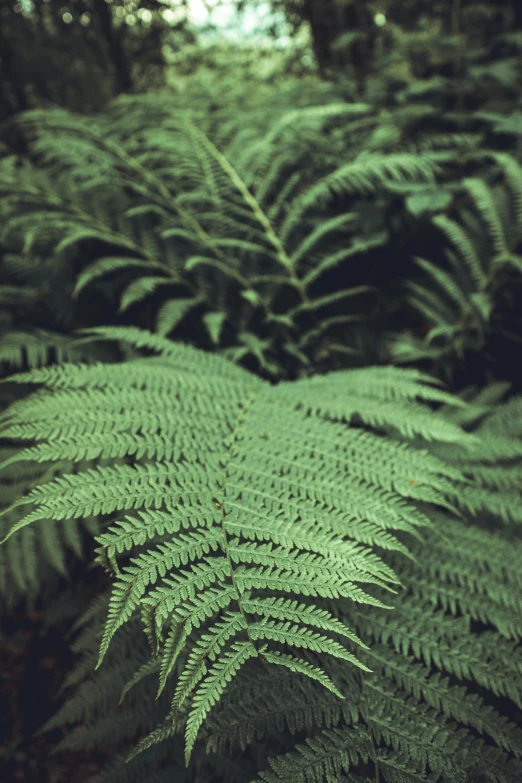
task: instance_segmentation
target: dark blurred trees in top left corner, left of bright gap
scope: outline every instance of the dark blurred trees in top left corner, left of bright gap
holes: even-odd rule
[[[89,112],[160,86],[163,42],[183,29],[184,5],[167,24],[159,0],[2,0],[0,115],[42,104]]]

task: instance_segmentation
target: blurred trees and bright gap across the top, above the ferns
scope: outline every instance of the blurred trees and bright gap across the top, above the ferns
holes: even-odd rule
[[[272,61],[261,77],[290,67],[360,96],[374,94],[384,69],[394,93],[453,77],[461,100],[463,77],[484,85],[480,67],[494,58],[488,80],[516,92],[522,34],[516,0],[2,0],[0,20],[0,116],[99,110],[193,73],[209,48],[229,59],[253,47]]]

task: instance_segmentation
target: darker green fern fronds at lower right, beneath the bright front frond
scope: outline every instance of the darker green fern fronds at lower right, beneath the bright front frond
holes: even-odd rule
[[[347,672],[351,706],[299,691],[291,698],[283,683],[267,693],[257,679],[242,700],[232,691],[223,702],[211,720],[209,749],[246,748],[283,728],[295,733],[313,725],[324,729],[256,780],[304,783],[328,774],[343,779],[343,772],[350,779],[368,756],[373,772],[365,780],[379,773],[390,783],[520,779],[522,549],[509,526],[522,513],[521,398],[496,407],[504,392],[503,384],[471,390],[464,395],[470,408],[441,411],[480,438],[473,452],[428,446],[470,480],[458,503],[471,510],[473,525],[434,510],[427,540],[412,547],[415,560],[391,555],[406,586],[394,611],[337,607],[340,619],[374,640],[361,653],[372,669],[362,674],[362,691]],[[354,725],[358,739],[349,730]]]

